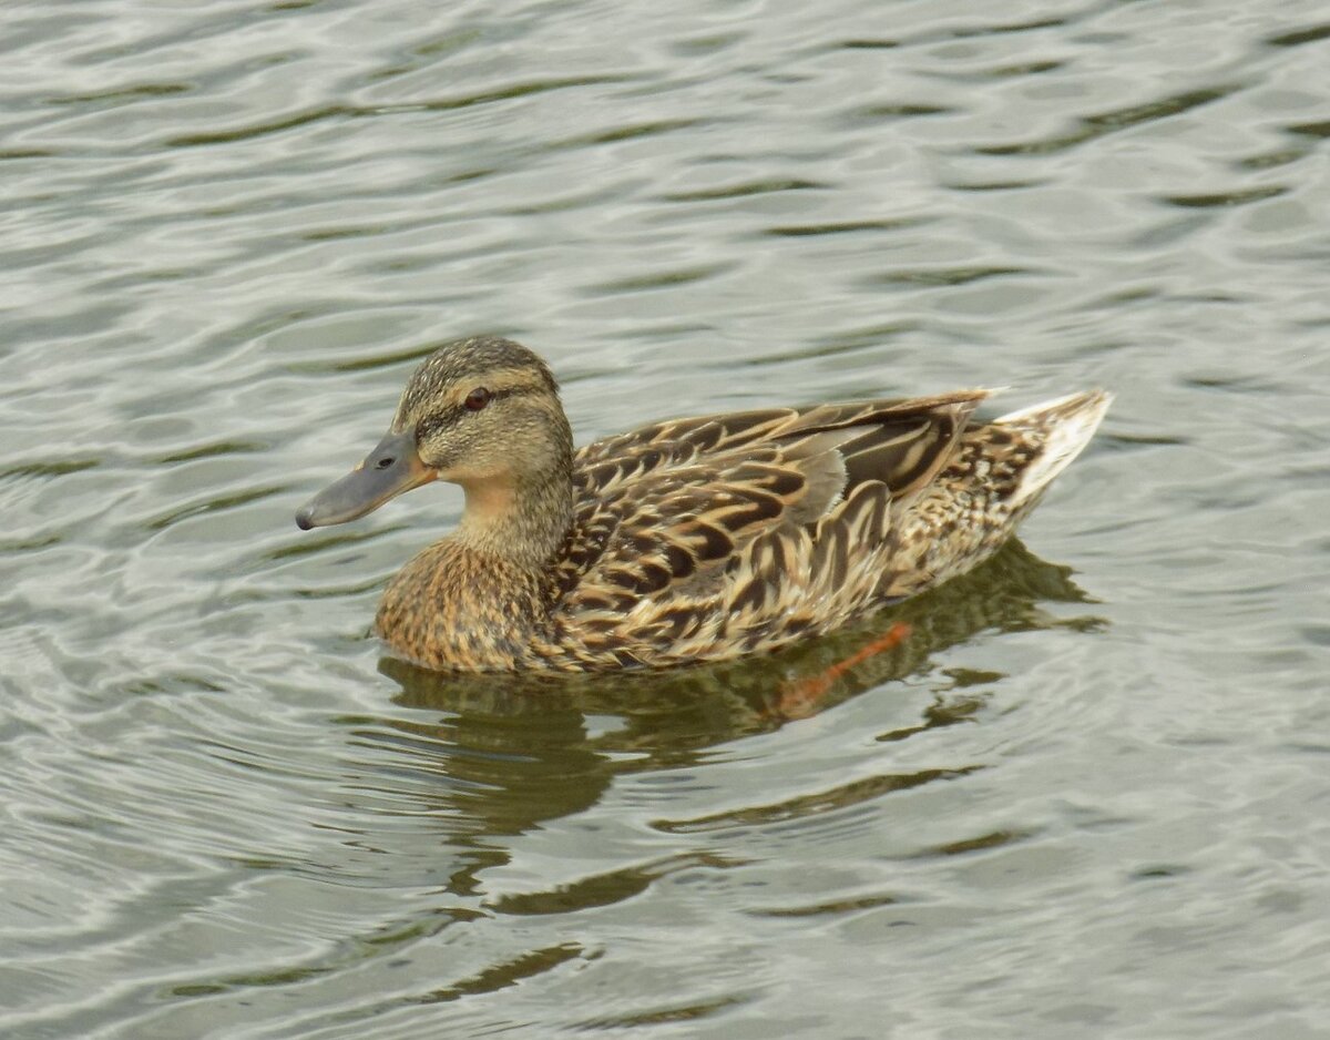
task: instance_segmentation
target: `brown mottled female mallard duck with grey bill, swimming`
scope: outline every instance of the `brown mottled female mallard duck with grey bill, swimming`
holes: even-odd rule
[[[436,669],[714,661],[830,632],[992,555],[1109,404],[1075,394],[971,422],[986,390],[709,415],[573,451],[545,363],[508,339],[440,347],[387,436],[297,513],[364,516],[431,480],[458,529],[375,621]]]

